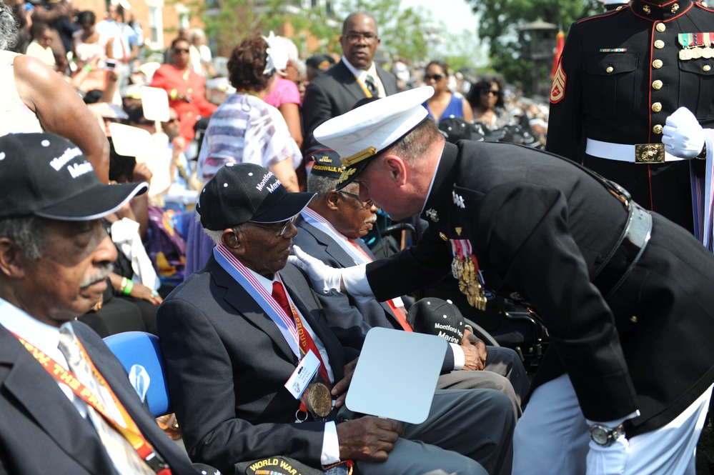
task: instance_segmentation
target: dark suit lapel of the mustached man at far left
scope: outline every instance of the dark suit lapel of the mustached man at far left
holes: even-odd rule
[[[0,326],[0,364],[11,366],[0,384],[68,456],[89,473],[111,470],[111,461],[91,424],[77,412],[55,379],[20,342]]]

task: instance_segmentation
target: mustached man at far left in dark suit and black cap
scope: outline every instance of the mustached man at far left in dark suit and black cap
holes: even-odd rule
[[[147,184],[102,185],[66,139],[10,134],[0,189],[0,474],[198,475],[122,364],[74,321],[116,259],[101,217]]]

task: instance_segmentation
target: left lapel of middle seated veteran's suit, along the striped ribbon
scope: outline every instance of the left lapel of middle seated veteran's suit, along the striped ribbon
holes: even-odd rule
[[[285,355],[297,361],[297,356],[292,352],[275,322],[265,314],[253,297],[218,264],[213,256],[210,257],[207,267],[216,283],[226,289],[224,299],[246,320],[262,329]]]

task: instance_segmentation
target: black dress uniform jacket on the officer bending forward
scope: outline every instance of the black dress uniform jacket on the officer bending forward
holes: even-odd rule
[[[714,256],[653,214],[643,255],[607,300],[590,277],[628,212],[571,161],[511,144],[445,144],[419,244],[367,264],[378,299],[450,271],[447,239],[470,239],[487,289],[530,302],[551,345],[534,386],[570,376],[583,414],[640,410],[630,436],[662,426],[714,381]],[[664,358],[663,349],[675,355]]]

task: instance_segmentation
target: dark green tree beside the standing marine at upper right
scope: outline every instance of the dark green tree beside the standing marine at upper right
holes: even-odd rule
[[[526,59],[524,48],[529,36],[519,35],[518,29],[532,21],[562,25],[567,34],[570,24],[578,19],[603,11],[597,0],[466,0],[479,15],[478,34],[487,41],[491,67],[507,82],[532,91],[533,75],[547,79],[550,67],[547,61],[534,66]],[[551,34],[555,48],[555,33]],[[536,72],[537,71],[537,72]]]

